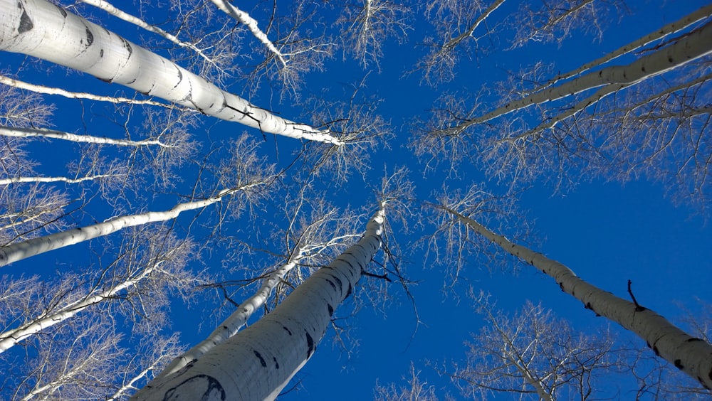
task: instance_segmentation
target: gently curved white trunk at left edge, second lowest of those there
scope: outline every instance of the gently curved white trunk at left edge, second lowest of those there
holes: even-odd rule
[[[251,183],[239,188],[226,189],[220,191],[216,196],[204,201],[179,203],[173,206],[170,210],[164,210],[162,212],[146,212],[137,215],[120,216],[106,220],[103,223],[74,228],[63,232],[56,232],[51,235],[37,237],[31,240],[16,242],[12,245],[0,247],[0,267],[44,252],[56,250],[61,247],[67,247],[69,245],[75,245],[79,242],[91,240],[96,237],[109,235],[112,232],[117,232],[123,228],[177,218],[180,213],[186,210],[204,208],[208,205],[221,201],[221,199],[229,193],[242,191],[257,185],[260,184]]]

